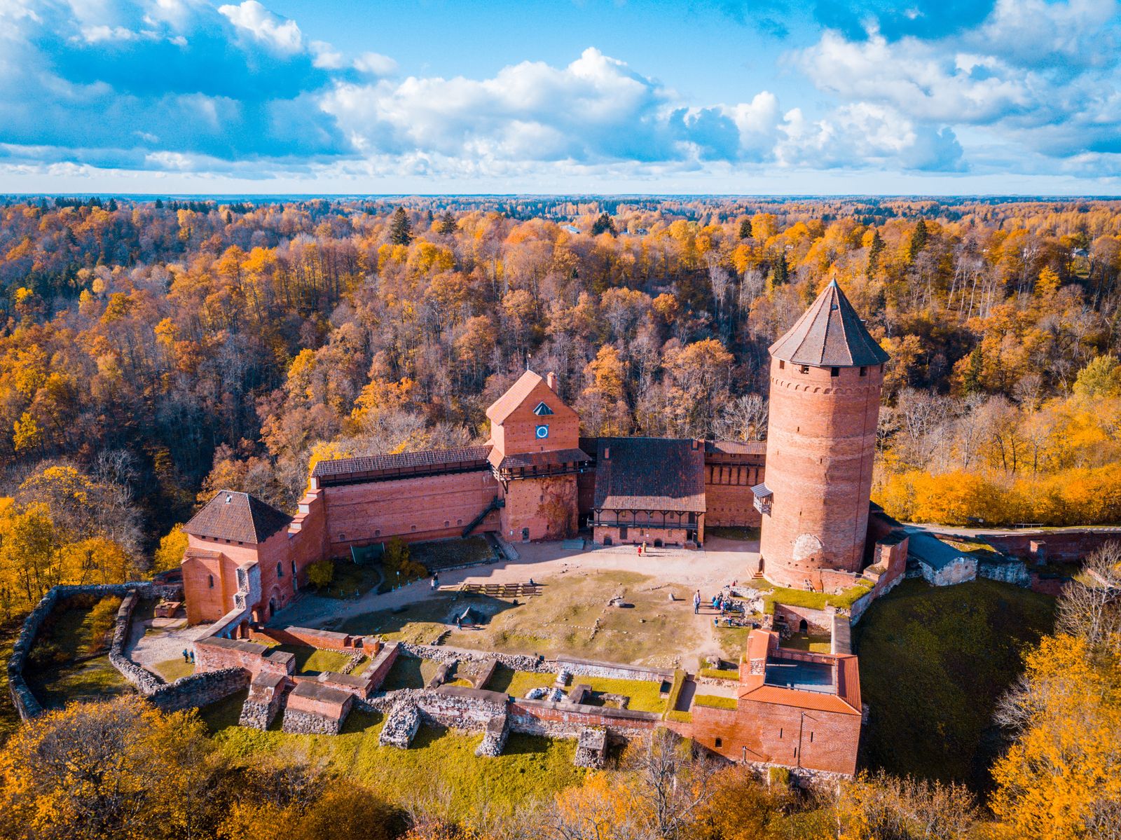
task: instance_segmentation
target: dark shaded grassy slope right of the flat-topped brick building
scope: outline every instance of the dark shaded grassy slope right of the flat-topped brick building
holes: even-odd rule
[[[871,708],[863,764],[988,788],[1003,746],[993,709],[1025,649],[1050,631],[1053,611],[1048,596],[984,579],[907,580],[877,600],[854,628]]]

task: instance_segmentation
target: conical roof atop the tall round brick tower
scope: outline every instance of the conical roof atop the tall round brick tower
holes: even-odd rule
[[[770,354],[794,364],[854,368],[886,362],[890,357],[876,343],[836,280],[781,339]]]

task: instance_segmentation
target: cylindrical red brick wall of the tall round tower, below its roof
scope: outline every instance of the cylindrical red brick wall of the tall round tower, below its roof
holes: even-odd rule
[[[763,574],[802,587],[818,569],[860,571],[882,373],[879,367],[799,372],[771,360]],[[819,543],[819,544],[818,544]]]

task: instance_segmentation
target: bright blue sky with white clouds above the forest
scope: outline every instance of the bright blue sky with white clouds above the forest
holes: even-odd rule
[[[0,192],[1121,194],[1113,0],[0,0]]]

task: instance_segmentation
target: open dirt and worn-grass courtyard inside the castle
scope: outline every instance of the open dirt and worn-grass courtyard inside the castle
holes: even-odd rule
[[[743,579],[758,560],[758,543],[711,538],[704,551],[656,548],[641,557],[632,546],[566,551],[560,543],[532,543],[517,548],[521,557],[516,562],[442,573],[437,590],[421,581],[346,601],[305,594],[272,624],[686,668],[710,657],[734,659],[745,641],[745,629],[713,627],[710,607],[694,615],[693,593],[700,590],[708,603],[723,587]],[[461,591],[464,583],[530,579],[541,584],[543,594],[502,599]],[[622,607],[610,604],[615,597]],[[456,615],[469,608],[479,624],[457,629]]]

